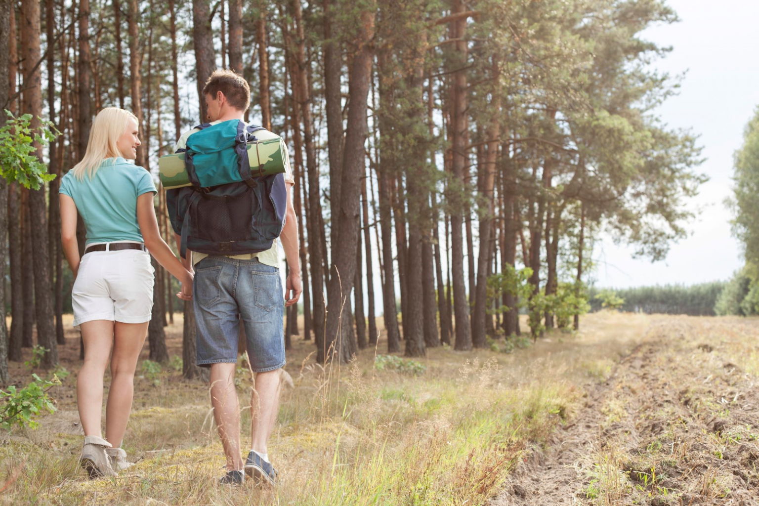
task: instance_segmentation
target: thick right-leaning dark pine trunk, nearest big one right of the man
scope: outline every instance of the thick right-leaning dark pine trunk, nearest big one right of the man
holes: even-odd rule
[[[296,2],[297,3],[297,2]],[[348,90],[348,133],[345,135],[343,151],[340,213],[333,217],[339,222],[338,240],[340,247],[332,253],[334,273],[327,285],[327,300],[332,310],[327,313],[326,339],[339,338],[335,350],[339,360],[347,363],[355,349],[353,343],[345,339],[345,334],[337,335],[340,328],[341,310],[353,288],[356,270],[356,248],[358,240],[359,196],[361,194],[361,171],[364,170],[364,142],[367,137],[367,102],[369,81],[372,75],[373,46],[370,41],[374,34],[374,2],[369,2],[361,11],[361,33],[355,41],[356,54],[353,58],[351,85]],[[345,332],[345,331],[343,331]],[[328,344],[329,349],[329,344]]]

